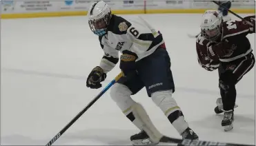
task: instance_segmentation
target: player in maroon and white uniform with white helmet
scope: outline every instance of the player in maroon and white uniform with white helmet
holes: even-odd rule
[[[196,41],[199,65],[208,71],[219,70],[221,98],[217,99],[215,112],[224,112],[221,126],[225,131],[233,129],[235,85],[255,64],[253,50],[246,37],[255,33],[255,16],[244,19],[224,22],[217,11],[207,10],[202,16],[201,34]]]

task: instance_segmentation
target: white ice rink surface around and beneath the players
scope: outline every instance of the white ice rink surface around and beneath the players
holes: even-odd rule
[[[200,140],[254,144],[255,67],[236,86],[234,129],[224,132],[223,115],[213,111],[219,98],[217,71],[199,66],[195,39],[187,36],[199,32],[201,14],[141,17],[164,34],[176,85],[173,96]],[[255,54],[255,34],[248,38]],[[86,87],[102,56],[86,17],[1,20],[1,145],[46,145],[103,89]],[[103,86],[117,74],[119,65]],[[160,132],[180,138],[145,89],[132,98],[144,105]],[[137,132],[108,91],[54,145],[131,145],[130,136]]]

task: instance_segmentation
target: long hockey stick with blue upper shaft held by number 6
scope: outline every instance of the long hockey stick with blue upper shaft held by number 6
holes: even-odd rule
[[[86,107],[83,108],[83,110],[81,110],[81,112],[79,112],[79,114],[77,114],[77,116],[75,116],[75,118],[72,119],[72,121],[70,121],[70,123],[68,123],[68,125],[66,125],[65,127],[63,127],[63,129],[61,129],[61,131],[56,134],[56,136],[54,136],[52,138],[52,140],[49,141],[49,143],[46,144],[46,146],[50,146],[53,143],[55,143],[55,141],[64,133],[66,132],[66,130],[73,124],[75,123],[75,121],[77,121],[78,118],[80,118],[80,116],[86,112],[106,91],[108,91],[108,89],[114,85],[120,78],[121,76],[123,76],[123,72],[121,72],[120,74],[118,74],[115,79],[113,79],[105,88],[104,90],[102,90],[92,101],[90,101],[90,103],[88,103],[88,105],[86,105]]]

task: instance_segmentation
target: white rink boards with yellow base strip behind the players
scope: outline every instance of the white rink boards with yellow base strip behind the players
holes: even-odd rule
[[[1,19],[86,16],[93,1],[1,1]],[[210,1],[106,1],[114,14],[162,14],[195,13],[205,10],[217,10],[217,5]],[[235,1],[233,12],[254,13],[255,1]]]

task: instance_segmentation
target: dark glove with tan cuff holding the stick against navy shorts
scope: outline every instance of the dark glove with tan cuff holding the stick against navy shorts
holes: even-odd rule
[[[132,74],[132,72],[136,72],[136,59],[138,58],[137,54],[134,52],[130,52],[128,50],[124,50],[123,54],[120,56],[120,69],[124,72],[124,75]]]

